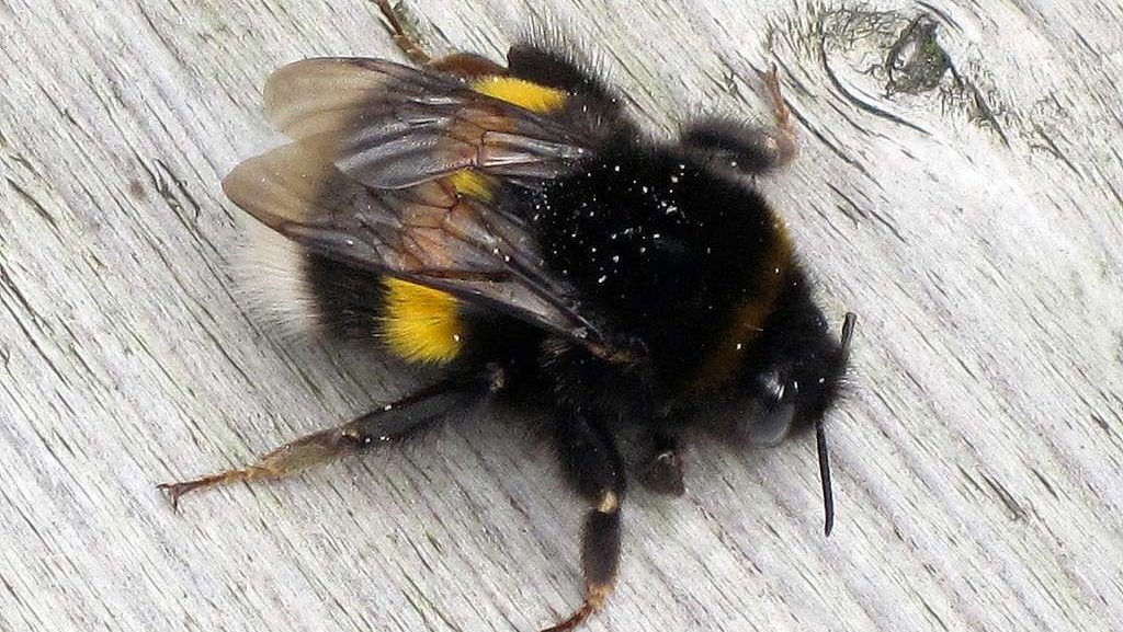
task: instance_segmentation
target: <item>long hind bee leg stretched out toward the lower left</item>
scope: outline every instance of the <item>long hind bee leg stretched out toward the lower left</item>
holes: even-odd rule
[[[355,454],[376,443],[403,439],[421,425],[477,397],[481,388],[464,381],[448,378],[413,393],[378,410],[355,418],[348,423],[305,434],[281,446],[255,464],[180,483],[162,483],[172,507],[188,492],[238,482],[281,478],[317,464]]]

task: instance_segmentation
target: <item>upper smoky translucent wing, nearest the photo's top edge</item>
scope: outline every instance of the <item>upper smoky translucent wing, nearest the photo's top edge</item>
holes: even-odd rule
[[[289,64],[266,83],[265,111],[290,138],[375,189],[465,168],[550,178],[591,146],[582,134],[462,81],[384,59]]]

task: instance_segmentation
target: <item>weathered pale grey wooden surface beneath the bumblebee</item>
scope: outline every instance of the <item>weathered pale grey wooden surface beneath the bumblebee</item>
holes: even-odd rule
[[[763,186],[862,317],[834,535],[810,441],[701,439],[685,497],[631,495],[588,629],[1123,628],[1123,9],[533,7],[409,2],[491,54],[555,15],[664,131],[763,115],[776,59],[804,147]],[[922,15],[934,79],[905,63],[942,70],[925,22],[902,42]],[[0,629],[536,630],[577,603],[579,506],[486,414],[179,515],[154,488],[409,385],[231,290],[219,181],[275,140],[270,71],[326,54],[396,56],[363,0],[0,2]]]

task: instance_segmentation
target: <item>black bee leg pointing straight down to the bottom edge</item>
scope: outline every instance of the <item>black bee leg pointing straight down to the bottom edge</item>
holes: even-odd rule
[[[612,438],[581,414],[557,425],[557,449],[570,484],[592,505],[581,537],[585,601],[564,621],[541,632],[573,630],[604,605],[620,567],[620,503],[623,460]]]

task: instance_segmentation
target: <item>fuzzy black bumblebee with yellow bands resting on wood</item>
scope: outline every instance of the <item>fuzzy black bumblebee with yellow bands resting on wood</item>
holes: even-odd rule
[[[492,394],[550,420],[590,503],[585,599],[548,630],[576,626],[612,590],[622,422],[649,430],[641,478],[672,494],[687,429],[770,445],[815,428],[829,533],[822,422],[853,317],[831,336],[783,220],[748,181],[795,153],[775,71],[763,75],[775,129],[707,118],[656,143],[560,47],[515,45],[506,66],[432,59],[380,6],[421,68],[320,58],[276,71],[265,112],[292,143],[223,189],[300,246],[300,295],[318,324],[439,377],[244,469],[162,485],[173,502],[401,439]]]

